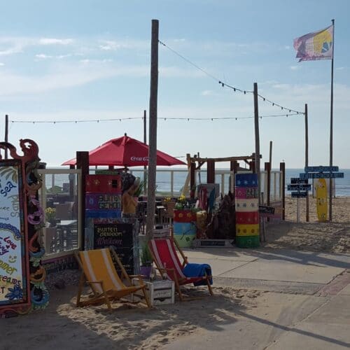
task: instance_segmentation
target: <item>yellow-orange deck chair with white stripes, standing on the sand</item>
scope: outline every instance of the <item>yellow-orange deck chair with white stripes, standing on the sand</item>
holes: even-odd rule
[[[118,276],[116,268],[113,265],[111,253],[120,267],[122,278],[125,279],[130,286],[125,286],[122,279]],[[111,301],[120,300],[120,298],[135,293],[137,290],[142,290],[147,306],[151,307],[145,290],[146,285],[144,281],[142,281],[141,276],[128,275],[113,248],[80,251],[76,253],[76,260],[82,270],[78,295],[76,297],[77,307],[106,303],[109,311],[111,311]],[[132,286],[130,277],[138,277],[139,286]],[[91,287],[94,295],[88,300],[80,300],[85,282]]]

